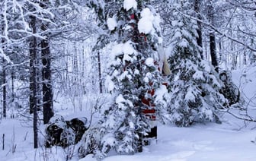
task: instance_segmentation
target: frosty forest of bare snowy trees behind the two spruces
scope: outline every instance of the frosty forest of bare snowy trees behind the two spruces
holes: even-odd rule
[[[39,122],[49,122],[56,100],[61,98],[64,104],[71,103],[77,112],[85,108],[85,96],[88,99],[94,96],[93,100],[97,100],[108,93],[109,84],[105,82],[111,63],[110,51],[118,43],[109,36],[114,30],[110,29],[113,23],[109,17],[118,10],[116,3],[2,0],[2,118],[26,119],[33,122],[34,131],[38,131]],[[191,38],[196,41],[191,46],[199,46],[202,60],[219,71],[254,66],[255,1],[145,3],[150,3],[161,19],[161,46],[166,58],[171,55],[177,37],[174,22],[184,20],[187,33],[193,29],[190,24],[196,25],[195,36]],[[133,8],[133,1],[127,4]],[[187,35],[184,32],[184,36]],[[93,100],[91,103],[95,104]],[[254,118],[242,118],[254,122]],[[35,148],[37,142],[36,133]]]

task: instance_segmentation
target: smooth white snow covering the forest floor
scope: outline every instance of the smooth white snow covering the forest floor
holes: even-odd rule
[[[235,84],[242,87],[246,94],[245,101],[251,99],[248,106],[248,114],[256,116],[254,106],[254,94],[256,93],[256,68],[249,70],[234,71],[233,80]],[[241,77],[241,75],[246,77]],[[67,118],[87,115],[90,109],[78,109],[74,112],[72,103],[63,103],[59,99],[59,114]],[[89,104],[87,106],[90,106]],[[238,113],[237,109],[232,112]],[[246,111],[242,111],[245,113]],[[223,115],[221,125],[207,123],[205,125],[194,125],[190,128],[177,128],[174,125],[158,125],[158,139],[152,144],[143,147],[142,153],[135,155],[108,156],[104,161],[200,161],[200,160],[256,160],[256,144],[251,142],[256,137],[256,123],[244,122],[232,117]],[[62,150],[61,147],[51,149],[38,148],[34,150],[33,128],[25,124],[21,118],[6,118],[0,123],[0,160],[66,160],[68,153],[72,153],[71,160],[78,160],[76,156],[77,147],[73,150]],[[44,126],[40,125],[40,131]],[[40,132],[40,144],[43,144],[43,132]],[[3,139],[3,134],[5,137]],[[4,140],[4,141],[3,141]],[[4,150],[3,148],[4,143]],[[91,155],[80,161],[96,160]]]

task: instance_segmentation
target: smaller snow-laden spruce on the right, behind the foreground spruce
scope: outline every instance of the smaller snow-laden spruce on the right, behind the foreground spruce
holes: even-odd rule
[[[173,35],[168,58],[171,68],[168,110],[171,122],[178,126],[189,126],[194,122],[220,122],[217,109],[226,103],[219,93],[221,84],[216,71],[200,56],[197,21],[184,15],[193,14],[191,8],[188,0],[173,5]]]

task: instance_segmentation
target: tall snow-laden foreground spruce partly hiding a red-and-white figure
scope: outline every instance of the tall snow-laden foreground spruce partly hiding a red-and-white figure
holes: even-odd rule
[[[86,155],[90,147],[94,147],[89,151],[98,159],[107,156],[110,150],[136,153],[142,148],[141,137],[150,130],[149,118],[142,111],[154,106],[156,117],[162,122],[167,119],[163,99],[167,89],[155,65],[161,43],[159,17],[150,1],[120,0],[116,3],[120,3],[120,8],[107,17],[106,22],[117,43],[110,52],[112,61],[107,77],[113,103],[102,113],[97,130],[91,128],[85,133],[80,156]],[[142,103],[143,98],[149,99],[151,106]],[[97,146],[91,146],[90,141],[97,138],[101,138]]]

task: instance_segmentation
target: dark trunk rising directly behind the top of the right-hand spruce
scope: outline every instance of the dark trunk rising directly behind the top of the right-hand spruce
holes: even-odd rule
[[[202,23],[200,22],[202,20],[202,17],[200,14],[200,0],[195,0],[194,11],[197,13],[197,25],[198,25],[197,45],[201,47],[200,55],[201,55],[201,58],[203,58],[203,36],[202,36]]]

